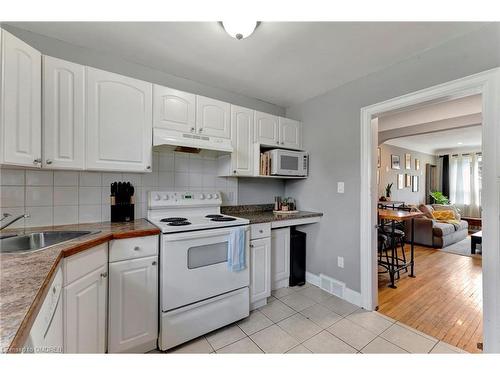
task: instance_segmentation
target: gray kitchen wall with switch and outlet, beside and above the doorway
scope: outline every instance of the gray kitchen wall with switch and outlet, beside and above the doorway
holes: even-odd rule
[[[304,122],[310,177],[286,183],[300,209],[320,210],[321,223],[308,234],[307,270],[324,273],[360,291],[360,109],[362,107],[500,66],[500,25],[473,33],[379,72],[349,82],[287,109]],[[338,194],[338,181],[345,193]],[[337,267],[337,256],[345,267]]]

